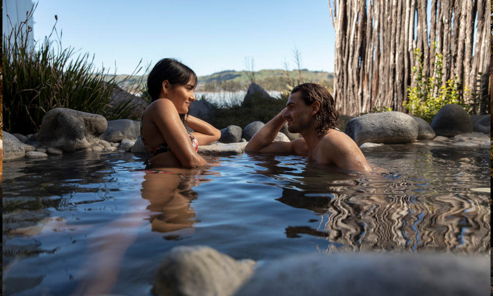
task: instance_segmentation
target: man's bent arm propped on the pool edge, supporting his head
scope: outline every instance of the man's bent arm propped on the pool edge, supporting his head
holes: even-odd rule
[[[274,139],[276,139],[277,134],[286,122],[286,119],[282,118],[283,112],[284,109],[255,133],[250,142],[246,145],[245,151],[274,153],[294,152],[292,142],[274,142]]]

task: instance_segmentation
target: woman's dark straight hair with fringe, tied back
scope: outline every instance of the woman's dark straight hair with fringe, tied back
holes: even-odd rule
[[[195,88],[197,74],[175,59],[166,58],[160,60],[147,76],[147,92],[151,97],[151,102],[159,99],[164,80],[168,80],[172,85],[185,85],[188,81],[193,81],[193,87]],[[181,120],[184,121],[185,114],[179,115]]]

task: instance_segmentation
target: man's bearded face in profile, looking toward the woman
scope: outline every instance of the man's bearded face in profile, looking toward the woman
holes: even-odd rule
[[[287,120],[287,130],[290,133],[300,133],[312,127],[314,118],[312,106],[305,104],[301,98],[301,92],[297,91],[287,100],[286,110],[282,118]]]

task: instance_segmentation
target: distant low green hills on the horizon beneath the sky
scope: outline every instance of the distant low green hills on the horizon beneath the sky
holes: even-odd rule
[[[288,76],[289,75],[289,76]],[[110,79],[108,75],[108,80]],[[127,75],[117,75],[116,81],[123,81]],[[118,84],[125,90],[138,92],[139,89],[144,89],[147,82],[147,76],[142,77],[142,84],[138,85],[141,76],[134,76],[131,79],[127,79],[124,82]],[[322,71],[308,71],[306,69],[301,70],[302,82],[318,82],[328,88],[332,88],[334,74]],[[289,79],[289,83],[288,83]],[[284,70],[260,70],[255,72],[255,82],[262,86],[266,90],[286,90],[289,88],[288,84],[293,86],[298,84],[298,71],[289,71],[286,74]],[[217,72],[210,75],[198,77],[198,91],[235,91],[240,89],[246,89],[250,84],[246,71],[233,71],[226,70]]]

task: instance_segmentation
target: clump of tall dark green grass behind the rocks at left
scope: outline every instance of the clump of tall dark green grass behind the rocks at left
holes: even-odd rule
[[[34,10],[35,7],[25,21],[2,37],[4,129],[10,133],[33,133],[46,112],[56,107],[100,114],[107,120],[129,118],[133,108],[130,100],[109,105],[116,86],[115,75],[105,81],[107,72],[96,69],[94,55],[91,58],[89,53],[64,48],[56,22],[49,36],[29,48],[28,36],[33,29],[28,20]]]

